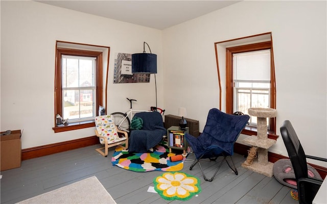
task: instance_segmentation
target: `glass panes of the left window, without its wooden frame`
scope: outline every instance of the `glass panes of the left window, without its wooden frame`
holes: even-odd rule
[[[61,55],[62,117],[71,122],[96,117],[97,58]]]

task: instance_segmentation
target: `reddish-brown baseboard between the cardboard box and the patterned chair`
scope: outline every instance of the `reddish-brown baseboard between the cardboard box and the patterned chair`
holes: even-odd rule
[[[43,157],[46,155],[52,155],[62,151],[68,151],[95,144],[99,144],[99,138],[97,136],[26,148],[21,150],[21,160]]]

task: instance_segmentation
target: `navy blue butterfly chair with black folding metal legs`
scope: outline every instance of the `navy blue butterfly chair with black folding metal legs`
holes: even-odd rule
[[[219,168],[224,161],[227,162],[229,168],[238,174],[235,164],[231,158],[233,155],[233,146],[246,123],[250,119],[248,115],[230,115],[213,108],[209,111],[203,133],[199,137],[185,134],[186,139],[191,145],[196,159],[190,167],[190,170],[199,164],[205,181],[213,181]],[[215,174],[211,179],[207,179],[202,170],[200,160],[210,159],[216,161],[218,157],[224,157],[220,162]],[[231,167],[226,159],[230,157],[233,167]]]

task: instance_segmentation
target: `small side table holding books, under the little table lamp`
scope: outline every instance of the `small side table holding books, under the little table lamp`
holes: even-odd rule
[[[172,149],[181,149],[183,150],[183,156],[186,157],[186,149],[189,147],[185,137],[186,133],[189,133],[189,127],[184,129],[181,129],[179,126],[169,127],[167,130],[169,152],[172,152]]]

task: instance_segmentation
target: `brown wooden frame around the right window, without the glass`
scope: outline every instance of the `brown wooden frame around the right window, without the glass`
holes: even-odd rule
[[[274,60],[272,41],[240,45],[235,47],[226,48],[226,113],[233,113],[233,86],[232,86],[232,55],[242,52],[251,52],[263,49],[271,49],[271,82],[270,82],[270,107],[276,108],[276,89],[275,89],[275,74],[274,74]],[[252,134],[252,131],[244,130],[244,134]],[[271,134],[276,133],[276,118],[270,118],[270,131]],[[243,133],[242,132],[242,133]]]

